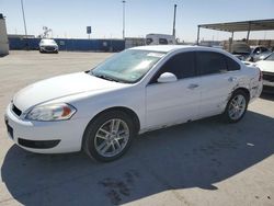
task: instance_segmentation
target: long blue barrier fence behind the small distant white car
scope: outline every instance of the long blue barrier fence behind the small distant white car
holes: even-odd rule
[[[22,50],[38,49],[41,38],[19,38],[10,37],[10,49]],[[124,39],[77,39],[77,38],[55,38],[59,50],[93,50],[93,52],[119,52],[125,49]]]

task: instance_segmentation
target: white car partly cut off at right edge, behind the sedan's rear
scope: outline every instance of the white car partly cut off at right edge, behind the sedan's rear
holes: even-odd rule
[[[263,91],[274,93],[274,53],[256,61],[256,66],[263,72]]]

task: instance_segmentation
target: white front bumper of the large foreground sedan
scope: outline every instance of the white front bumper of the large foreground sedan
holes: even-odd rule
[[[37,153],[64,153],[81,150],[85,122],[69,119],[35,122],[20,119],[9,105],[4,121],[10,138],[21,148]]]

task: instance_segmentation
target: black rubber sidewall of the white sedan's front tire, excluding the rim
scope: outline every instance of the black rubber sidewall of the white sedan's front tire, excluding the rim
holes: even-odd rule
[[[103,157],[100,153],[98,153],[98,151],[95,149],[94,138],[95,138],[95,134],[96,134],[98,129],[105,122],[107,122],[112,118],[121,118],[122,121],[124,121],[127,124],[128,129],[129,129],[129,138],[128,138],[126,147],[119,153],[117,153],[114,157]],[[89,125],[85,128],[84,135],[83,135],[83,146],[82,147],[89,157],[94,158],[98,161],[109,162],[109,161],[113,161],[113,160],[118,159],[129,149],[134,136],[135,136],[135,129],[134,129],[134,125],[133,125],[133,121],[132,121],[130,116],[124,112],[121,112],[121,111],[110,111],[110,112],[106,112],[106,113],[99,115],[98,117],[95,117],[95,119],[93,119],[89,123]]]

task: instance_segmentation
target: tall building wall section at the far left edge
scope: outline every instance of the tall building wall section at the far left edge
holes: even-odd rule
[[[0,13],[0,56],[9,55],[9,42],[7,35],[5,21]]]

